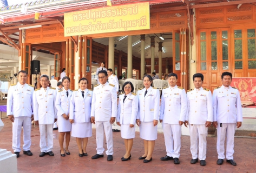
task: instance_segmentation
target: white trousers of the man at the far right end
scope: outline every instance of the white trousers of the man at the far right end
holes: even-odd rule
[[[237,128],[236,123],[222,123],[222,127],[220,127],[220,123],[218,123],[217,127],[217,152],[219,159],[225,159],[225,138],[227,137],[227,147],[226,147],[226,159],[233,159],[234,154],[234,136],[235,136],[235,128]]]

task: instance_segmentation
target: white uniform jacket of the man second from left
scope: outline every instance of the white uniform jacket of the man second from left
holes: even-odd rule
[[[53,124],[57,118],[57,109],[55,107],[56,90],[47,87],[38,88],[33,94],[34,101],[34,119],[39,124]]]

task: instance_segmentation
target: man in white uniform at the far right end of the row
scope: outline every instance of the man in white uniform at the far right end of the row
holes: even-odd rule
[[[225,159],[225,138],[227,137],[226,159],[236,166],[233,159],[235,129],[242,125],[242,107],[237,88],[231,87],[231,72],[221,75],[222,86],[213,91],[213,125],[217,128],[217,164],[221,165]]]

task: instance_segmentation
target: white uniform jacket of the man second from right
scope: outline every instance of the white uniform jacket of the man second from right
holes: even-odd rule
[[[208,89],[191,89],[187,91],[187,116],[189,124],[205,124],[213,121],[212,92]]]

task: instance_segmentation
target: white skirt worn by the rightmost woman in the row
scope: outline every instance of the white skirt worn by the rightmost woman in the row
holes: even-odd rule
[[[140,138],[147,141],[155,141],[157,139],[157,125],[154,126],[152,122],[141,122],[140,124]]]

